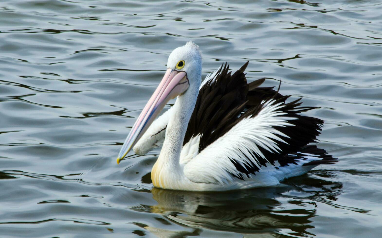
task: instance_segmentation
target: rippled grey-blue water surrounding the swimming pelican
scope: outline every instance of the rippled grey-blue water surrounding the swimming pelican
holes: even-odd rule
[[[380,237],[379,0],[0,2],[1,237]],[[116,163],[173,48],[317,106],[340,159],[282,186],[152,189]]]

